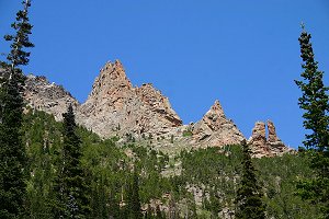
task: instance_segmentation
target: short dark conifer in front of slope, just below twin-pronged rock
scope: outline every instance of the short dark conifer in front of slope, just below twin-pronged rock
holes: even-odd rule
[[[262,188],[257,180],[257,171],[251,161],[251,151],[247,141],[241,142],[243,150],[242,174],[240,187],[236,197],[236,218],[262,219],[265,218],[265,205],[262,201]]]

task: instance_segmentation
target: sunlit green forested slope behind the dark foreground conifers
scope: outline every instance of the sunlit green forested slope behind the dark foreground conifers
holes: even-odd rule
[[[24,115],[24,145],[31,178],[27,218],[52,218],[52,191],[60,165],[63,124],[52,115],[30,110]],[[169,157],[151,145],[101,139],[83,127],[81,138],[84,181],[90,196],[88,218],[133,218],[138,189],[145,218],[229,218],[235,211],[241,173],[240,146],[183,150]],[[269,218],[314,218],[319,209],[295,194],[298,178],[311,177],[306,152],[253,159]],[[138,175],[134,187],[134,174]],[[136,185],[135,185],[136,186]]]

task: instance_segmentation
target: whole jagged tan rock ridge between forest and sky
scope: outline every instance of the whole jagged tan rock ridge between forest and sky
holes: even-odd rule
[[[77,122],[104,138],[168,139],[166,147],[175,141],[194,148],[234,145],[245,139],[234,122],[226,117],[218,101],[201,120],[183,125],[168,97],[150,83],[133,87],[118,60],[107,62],[101,69],[83,104],[63,87],[32,74],[27,76],[24,96],[32,108],[50,113],[57,120],[72,104]],[[288,151],[276,137],[272,122],[268,122],[268,129],[266,138],[264,123],[256,124],[249,139],[253,152],[262,157]]]

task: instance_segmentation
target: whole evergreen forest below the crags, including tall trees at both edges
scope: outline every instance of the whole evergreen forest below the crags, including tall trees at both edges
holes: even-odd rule
[[[0,218],[329,218],[328,88],[304,25],[305,148],[256,159],[243,140],[169,154],[129,135],[100,138],[71,105],[63,122],[26,106],[20,67],[34,45],[23,7],[1,61]]]

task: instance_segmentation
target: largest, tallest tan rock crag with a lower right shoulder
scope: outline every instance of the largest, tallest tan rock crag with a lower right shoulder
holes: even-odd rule
[[[133,88],[122,64],[107,62],[80,107],[78,122],[97,134],[163,134],[182,125],[167,97],[151,84]]]

